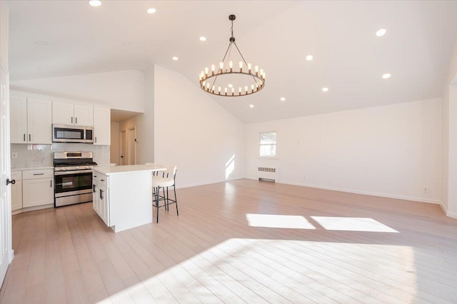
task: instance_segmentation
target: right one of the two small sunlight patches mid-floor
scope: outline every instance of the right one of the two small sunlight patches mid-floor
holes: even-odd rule
[[[379,223],[373,218],[343,218],[336,216],[311,216],[311,218],[326,230],[398,233],[397,230]]]

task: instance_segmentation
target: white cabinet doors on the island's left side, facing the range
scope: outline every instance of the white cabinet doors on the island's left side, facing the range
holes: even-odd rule
[[[94,172],[92,173],[93,188],[93,208],[106,226],[109,225],[109,190],[108,176]]]

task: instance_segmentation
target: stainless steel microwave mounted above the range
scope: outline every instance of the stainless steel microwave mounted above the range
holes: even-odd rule
[[[94,143],[91,126],[52,125],[53,143]]]

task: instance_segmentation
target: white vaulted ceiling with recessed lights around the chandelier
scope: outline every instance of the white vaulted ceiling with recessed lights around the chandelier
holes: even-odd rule
[[[457,1],[8,2],[13,83],[158,64],[199,89],[235,14],[236,43],[266,86],[213,98],[246,123],[440,97],[457,36]]]

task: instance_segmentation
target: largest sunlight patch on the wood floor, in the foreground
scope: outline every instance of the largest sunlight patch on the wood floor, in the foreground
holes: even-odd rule
[[[231,238],[109,300],[413,303],[416,266],[409,246]]]

